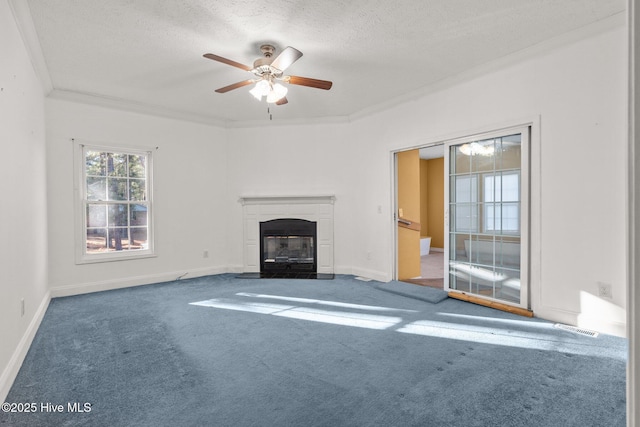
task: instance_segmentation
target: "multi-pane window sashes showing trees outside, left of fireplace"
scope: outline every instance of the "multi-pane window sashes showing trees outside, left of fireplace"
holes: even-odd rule
[[[79,145],[78,261],[153,255],[151,152]]]

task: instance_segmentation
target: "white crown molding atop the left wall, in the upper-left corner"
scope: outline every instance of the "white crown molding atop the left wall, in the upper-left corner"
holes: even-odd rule
[[[53,82],[49,75],[47,61],[45,61],[44,54],[42,53],[42,46],[40,45],[36,27],[33,25],[29,4],[24,0],[8,0],[8,3],[11,13],[13,14],[13,19],[20,32],[20,37],[22,37],[22,42],[31,60],[33,70],[38,80],[40,80],[42,90],[46,96],[53,90]]]

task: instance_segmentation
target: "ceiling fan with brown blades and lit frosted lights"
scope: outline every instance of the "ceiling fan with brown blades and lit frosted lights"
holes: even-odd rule
[[[268,103],[282,105],[286,104],[289,101],[287,101],[286,98],[287,88],[281,85],[279,82],[313,87],[316,89],[331,89],[333,83],[327,80],[318,80],[299,76],[285,76],[284,71],[289,68],[291,64],[300,59],[300,57],[302,56],[302,52],[300,52],[298,49],[288,46],[277,57],[273,58],[275,50],[276,48],[270,44],[260,46],[260,51],[262,52],[264,57],[256,59],[253,62],[253,67],[240,64],[239,62],[232,61],[230,59],[223,58],[212,53],[205,53],[203,55],[205,58],[209,58],[214,61],[222,62],[223,64],[231,65],[233,67],[249,71],[255,76],[252,79],[243,80],[241,82],[233,83],[229,86],[216,89],[216,92],[226,93],[231,90],[255,83],[255,87],[249,92],[254,97],[256,97],[256,99],[262,100],[263,97],[266,97],[266,101]]]

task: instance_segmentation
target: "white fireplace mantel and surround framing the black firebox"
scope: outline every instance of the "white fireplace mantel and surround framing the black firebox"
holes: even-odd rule
[[[313,196],[242,196],[243,270],[260,271],[260,223],[273,219],[292,218],[314,221],[317,225],[316,244],[318,273],[333,274],[333,195]]]

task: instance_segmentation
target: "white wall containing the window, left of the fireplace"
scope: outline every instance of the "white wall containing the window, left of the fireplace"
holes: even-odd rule
[[[226,271],[226,132],[97,106],[48,99],[49,283],[53,296]],[[72,139],[158,147],[154,159],[157,257],[75,263]],[[209,257],[204,258],[204,251]]]

